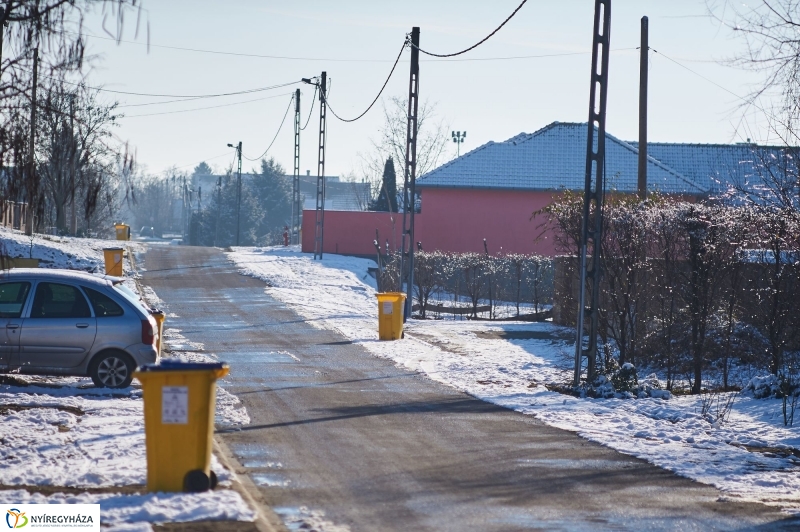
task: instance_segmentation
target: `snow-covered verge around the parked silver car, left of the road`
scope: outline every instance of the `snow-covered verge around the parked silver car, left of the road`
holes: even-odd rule
[[[0,242],[12,257],[44,259],[42,267],[103,271],[104,247],[120,243],[37,235],[0,229]],[[124,243],[132,251],[136,243]],[[135,273],[124,263],[128,284]],[[161,304],[152,290],[144,295]],[[167,319],[169,325],[169,318]],[[209,359],[203,346],[167,328],[164,341],[173,356]],[[239,400],[218,387],[216,422],[237,426],[249,422]],[[99,503],[101,522],[119,530],[152,530],[150,523],[240,520],[255,514],[231,489],[231,474],[214,457],[212,468],[223,488],[200,494],[146,493],[146,457],[142,390],[138,381],[121,390],[95,388],[88,377],[0,375],[0,501],[6,503]],[[14,489],[14,487],[20,489]],[[141,493],[115,488],[140,486]],[[45,495],[37,487],[46,487]],[[59,487],[87,488],[59,492]]]

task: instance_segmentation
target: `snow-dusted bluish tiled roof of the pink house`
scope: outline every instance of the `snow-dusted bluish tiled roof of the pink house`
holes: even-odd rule
[[[587,124],[554,122],[535,133],[489,142],[421,176],[420,187],[583,190]],[[700,195],[712,191],[710,176],[744,171],[750,146],[648,144],[649,190]],[[747,154],[749,153],[749,157]],[[635,192],[636,143],[606,133],[606,190]]]

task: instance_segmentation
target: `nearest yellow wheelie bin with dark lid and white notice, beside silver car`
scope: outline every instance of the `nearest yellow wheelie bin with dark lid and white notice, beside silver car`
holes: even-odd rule
[[[217,379],[225,363],[162,360],[140,367],[147,447],[147,491],[213,489],[211,471]]]

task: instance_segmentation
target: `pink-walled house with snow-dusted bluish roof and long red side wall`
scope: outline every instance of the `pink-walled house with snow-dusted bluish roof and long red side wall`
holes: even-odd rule
[[[415,240],[426,250],[491,254],[555,254],[555,244],[532,214],[565,190],[583,191],[587,124],[554,122],[534,133],[488,142],[417,178],[421,209]],[[755,181],[779,148],[752,144],[648,143],[650,191],[704,198],[731,184]],[[637,143],[606,133],[607,193],[636,193]],[[314,217],[305,217],[313,222]],[[325,252],[369,255],[401,242],[402,213],[325,215]],[[385,235],[385,236],[384,236]],[[538,238],[537,238],[538,237]],[[313,223],[303,224],[303,251],[314,250]]]

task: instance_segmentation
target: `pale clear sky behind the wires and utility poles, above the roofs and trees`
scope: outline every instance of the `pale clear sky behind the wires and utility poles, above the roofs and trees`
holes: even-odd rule
[[[386,2],[377,0],[257,1],[146,0],[138,37],[128,16],[124,39],[139,44],[89,38],[89,52],[102,60],[90,74],[109,89],[202,94],[252,89],[312,77],[326,70],[333,80],[330,103],[343,116],[360,114],[374,98],[412,26],[421,28],[421,47],[434,52],[465,48],[494,29],[519,0]],[[741,43],[706,16],[702,0],[615,0],[612,2],[610,88],[607,130],[625,140],[638,131],[639,20],[650,19],[651,141],[728,143],[767,141],[763,118],[752,109],[740,121],[741,101],[758,77],[718,64],[741,50]],[[462,59],[576,53],[556,57],[485,61],[425,60],[420,93],[435,102],[451,129],[466,130],[462,153],[490,140],[501,141],[558,121],[584,122],[588,115],[592,0],[529,0],[495,37]],[[150,44],[145,21],[149,20]],[[97,14],[87,32],[104,36]],[[307,59],[269,59],[197,53],[176,46]],[[666,59],[713,80],[726,90]],[[408,52],[385,95],[405,96]],[[312,91],[300,86],[303,116]],[[218,169],[230,164],[228,143],[242,141],[256,157],[272,140],[289,103],[290,88],[253,95],[124,107],[128,115],[116,134],[136,148],[150,172],[170,166],[186,170],[202,160]],[[730,92],[728,92],[730,91]],[[259,101],[250,101],[260,98]],[[119,96],[124,105],[172,98]],[[215,109],[177,112],[200,107]],[[136,116],[139,115],[139,116]],[[364,119],[345,124],[330,117],[326,173],[359,170],[359,153],[370,149],[381,125],[379,106]],[[318,116],[301,141],[301,170],[316,173]],[[455,155],[455,145],[450,144]],[[271,155],[292,165],[291,113]],[[255,163],[245,164],[249,170]]]

